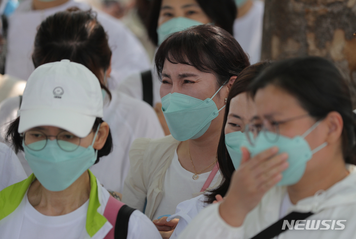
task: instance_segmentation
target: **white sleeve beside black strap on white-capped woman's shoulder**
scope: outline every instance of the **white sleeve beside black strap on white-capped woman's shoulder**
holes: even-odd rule
[[[142,212],[135,210],[129,220],[127,239],[162,239],[156,226]]]

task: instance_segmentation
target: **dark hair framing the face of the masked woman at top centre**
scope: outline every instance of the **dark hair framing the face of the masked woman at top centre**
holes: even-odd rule
[[[237,15],[234,0],[196,0],[204,13],[212,19],[215,25],[223,28],[233,35],[233,24]],[[161,11],[162,0],[152,0],[150,13],[146,20],[146,28],[151,41],[158,45],[158,18]]]

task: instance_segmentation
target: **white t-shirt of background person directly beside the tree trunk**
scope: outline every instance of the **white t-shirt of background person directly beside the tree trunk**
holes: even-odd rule
[[[265,3],[261,0],[254,0],[250,11],[234,22],[234,38],[250,56],[251,64],[261,60],[264,12]]]

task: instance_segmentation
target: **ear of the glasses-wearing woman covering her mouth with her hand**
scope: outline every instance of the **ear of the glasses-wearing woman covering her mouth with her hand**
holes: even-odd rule
[[[326,142],[331,144],[339,141],[344,127],[342,116],[339,114],[339,112],[331,111],[325,117],[325,122],[329,129]]]

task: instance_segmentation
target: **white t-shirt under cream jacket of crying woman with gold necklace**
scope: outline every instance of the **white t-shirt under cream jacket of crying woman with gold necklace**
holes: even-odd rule
[[[194,174],[180,165],[176,151],[172,163],[167,169],[163,184],[163,197],[153,219],[157,219],[163,215],[174,214],[180,202],[191,199],[196,196],[193,194],[200,192],[210,173],[211,172],[199,174],[199,178],[194,180]],[[217,183],[219,176],[220,171],[215,175],[209,187]]]

